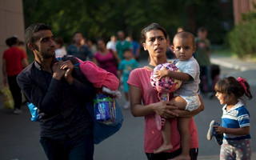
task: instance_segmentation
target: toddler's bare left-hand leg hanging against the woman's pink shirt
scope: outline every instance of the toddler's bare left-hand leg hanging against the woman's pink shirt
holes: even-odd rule
[[[171,142],[170,142],[171,141],[170,131],[171,131],[170,119],[166,119],[166,123],[164,126],[162,126],[162,130],[161,130],[162,140],[163,140],[162,146],[160,146],[157,150],[154,150],[154,154],[159,154],[161,152],[165,152],[173,149],[173,146],[171,145]]]

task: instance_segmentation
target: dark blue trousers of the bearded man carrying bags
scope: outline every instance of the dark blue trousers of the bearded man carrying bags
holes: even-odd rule
[[[41,138],[40,142],[49,160],[93,160],[94,139],[83,134],[79,138],[54,140]]]

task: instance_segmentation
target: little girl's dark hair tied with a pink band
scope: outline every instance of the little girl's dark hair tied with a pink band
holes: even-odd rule
[[[252,94],[250,93],[250,85],[248,82],[242,82],[246,86],[246,89],[242,86],[240,82],[234,77],[222,78],[219,80],[214,89],[222,94],[231,95],[234,94],[236,98],[241,98],[244,94],[249,99],[253,98]]]

